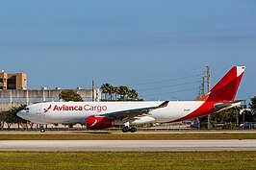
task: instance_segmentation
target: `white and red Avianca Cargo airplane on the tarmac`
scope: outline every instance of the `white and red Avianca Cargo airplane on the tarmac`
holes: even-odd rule
[[[235,100],[245,66],[234,66],[209,93],[195,101],[157,102],[46,102],[17,112],[23,119],[41,125],[86,125],[89,130],[122,126],[135,133],[136,125],[172,123],[206,116],[241,105]],[[43,126],[40,132],[44,133]]]

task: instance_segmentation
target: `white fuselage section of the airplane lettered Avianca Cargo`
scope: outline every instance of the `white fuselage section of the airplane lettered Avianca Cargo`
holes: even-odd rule
[[[110,112],[130,109],[149,108],[163,102],[50,102],[29,106],[21,110],[18,116],[40,124],[85,124],[89,116],[100,116]],[[163,123],[184,117],[204,102],[168,102],[165,108],[153,109],[147,115],[130,122],[132,125],[144,123]]]

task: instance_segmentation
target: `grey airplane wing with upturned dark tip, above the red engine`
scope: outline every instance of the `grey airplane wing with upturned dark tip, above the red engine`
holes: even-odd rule
[[[108,119],[134,119],[134,117],[149,115],[149,112],[151,110],[165,108],[167,105],[168,105],[168,101],[156,107],[141,108],[141,109],[126,109],[121,111],[109,112],[106,114],[102,114],[101,116],[104,116],[105,118],[108,118]]]

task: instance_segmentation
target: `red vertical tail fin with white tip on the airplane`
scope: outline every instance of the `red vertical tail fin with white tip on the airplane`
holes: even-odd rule
[[[234,66],[213,89],[197,101],[234,101],[241,83],[245,66]]]

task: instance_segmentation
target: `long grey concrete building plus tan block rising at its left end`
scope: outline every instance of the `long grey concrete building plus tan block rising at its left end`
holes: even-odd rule
[[[59,95],[64,90],[73,90],[80,94],[84,101],[100,101],[99,89],[27,89],[27,74],[0,73],[0,111],[7,110],[21,104],[32,105],[39,102],[59,101]],[[93,91],[93,92],[92,92]]]

